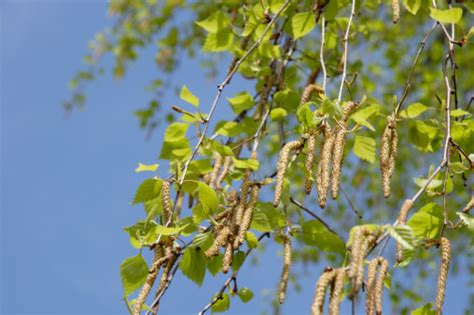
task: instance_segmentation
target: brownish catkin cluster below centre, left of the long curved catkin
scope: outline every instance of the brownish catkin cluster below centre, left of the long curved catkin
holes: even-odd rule
[[[226,163],[224,159],[223,170],[218,176],[222,159],[216,156],[214,168],[210,176],[210,186],[218,188],[222,179],[227,174],[231,162]],[[252,158],[255,158],[253,155]],[[214,219],[216,224],[213,227],[214,242],[212,246],[204,252],[208,258],[219,255],[221,247],[224,247],[224,258],[222,271],[227,273],[232,264],[234,250],[237,250],[245,240],[245,235],[252,222],[253,211],[258,200],[260,183],[251,182],[251,171],[246,170],[240,196],[235,191],[231,191],[227,197],[227,208],[219,213]]]

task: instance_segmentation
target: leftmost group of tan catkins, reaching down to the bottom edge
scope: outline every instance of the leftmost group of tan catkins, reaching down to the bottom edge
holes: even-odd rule
[[[171,207],[171,182],[167,180],[163,181],[163,185],[161,187],[161,206],[163,210],[163,223],[172,226],[173,211]],[[153,256],[153,262],[150,269],[148,270],[145,284],[142,286],[141,291],[135,301],[133,311],[134,315],[140,314],[142,306],[145,303],[145,300],[151,289],[153,288],[158,274],[160,273],[160,269],[163,269],[163,272],[156,290],[156,296],[161,295],[162,291],[166,288],[171,270],[178,259],[180,251],[179,248],[175,247],[174,243],[174,237],[167,236],[160,238],[160,241],[153,245],[153,250],[155,252]]]

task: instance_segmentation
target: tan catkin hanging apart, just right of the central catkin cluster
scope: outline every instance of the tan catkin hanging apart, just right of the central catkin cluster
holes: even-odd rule
[[[380,149],[380,173],[382,175],[382,188],[385,198],[390,196],[390,179],[395,170],[395,160],[398,153],[398,134],[396,130],[396,119],[387,117],[388,123],[382,134]]]

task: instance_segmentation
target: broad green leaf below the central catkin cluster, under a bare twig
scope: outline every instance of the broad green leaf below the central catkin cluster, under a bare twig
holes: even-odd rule
[[[329,231],[321,222],[308,220],[302,225],[303,241],[315,245],[320,250],[345,254],[346,244],[336,234]]]

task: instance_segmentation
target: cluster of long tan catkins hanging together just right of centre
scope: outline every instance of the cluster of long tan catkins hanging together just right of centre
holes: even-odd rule
[[[300,104],[305,104],[311,92],[319,90],[316,85],[309,85],[303,91]],[[275,195],[273,205],[278,206],[283,189],[283,179],[288,167],[290,155],[298,153],[306,145],[305,160],[305,192],[311,193],[313,185],[313,164],[315,160],[316,139],[319,134],[322,135],[319,162],[316,174],[316,189],[318,192],[319,205],[321,208],[326,206],[327,194],[331,186],[331,197],[336,199],[339,195],[339,183],[341,178],[342,164],[344,160],[344,148],[346,144],[346,133],[349,116],[357,108],[358,104],[347,102],[342,107],[342,116],[334,128],[331,128],[328,121],[323,121],[318,127],[308,130],[302,140],[290,141],[280,151]],[[332,170],[331,170],[332,167]]]

